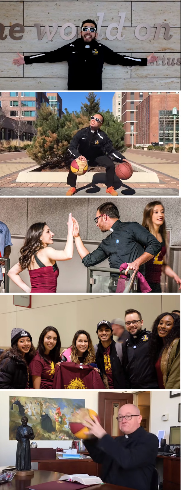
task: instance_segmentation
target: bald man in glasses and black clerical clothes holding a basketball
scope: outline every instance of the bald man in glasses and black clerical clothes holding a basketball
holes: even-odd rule
[[[97,417],[84,423],[89,435],[96,438],[86,439],[84,444],[93,461],[102,465],[102,481],[135,490],[153,490],[151,480],[159,447],[157,436],[141,427],[142,416],[136,405],[122,405],[116,418],[123,436],[115,439],[101,427]]]

